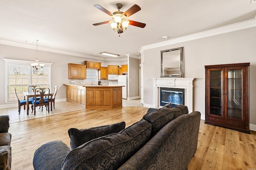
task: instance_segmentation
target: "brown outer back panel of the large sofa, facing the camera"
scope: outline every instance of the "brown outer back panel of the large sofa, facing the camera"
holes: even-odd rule
[[[118,170],[186,170],[196,152],[200,115],[194,111],[167,123]]]

